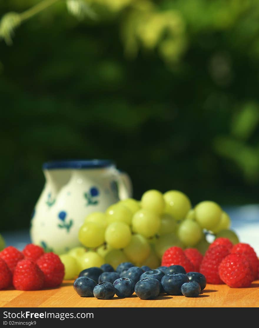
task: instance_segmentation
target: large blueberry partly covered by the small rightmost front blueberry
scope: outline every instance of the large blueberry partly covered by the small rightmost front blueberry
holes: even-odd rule
[[[182,295],[182,284],[188,281],[189,278],[183,273],[171,273],[162,277],[161,284],[168,295]]]

